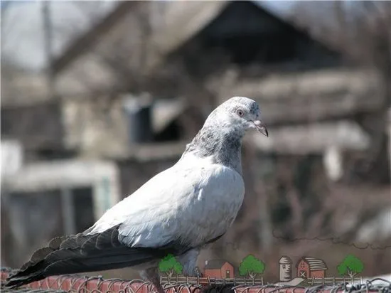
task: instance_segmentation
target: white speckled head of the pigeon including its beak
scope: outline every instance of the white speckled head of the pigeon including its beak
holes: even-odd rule
[[[231,97],[213,111],[205,124],[220,123],[233,131],[244,134],[248,129],[257,129],[258,132],[269,137],[267,128],[260,119],[261,112],[255,100],[248,97]]]

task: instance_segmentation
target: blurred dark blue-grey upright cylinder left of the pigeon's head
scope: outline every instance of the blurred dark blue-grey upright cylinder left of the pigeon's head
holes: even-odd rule
[[[153,139],[151,97],[147,94],[138,97],[126,95],[123,100],[123,107],[127,119],[129,144],[151,142]]]

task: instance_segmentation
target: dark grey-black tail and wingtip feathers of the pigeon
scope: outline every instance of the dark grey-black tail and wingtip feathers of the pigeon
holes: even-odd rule
[[[51,275],[132,267],[159,260],[168,253],[178,255],[191,249],[178,243],[164,247],[128,247],[119,241],[118,228],[119,225],[103,233],[54,238],[48,247],[34,252],[31,260],[7,279],[5,286],[19,287]]]

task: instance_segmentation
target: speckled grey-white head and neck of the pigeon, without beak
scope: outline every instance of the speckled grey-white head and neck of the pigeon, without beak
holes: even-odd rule
[[[213,156],[216,163],[232,167],[241,174],[242,138],[253,128],[252,122],[259,115],[259,106],[254,100],[231,97],[209,114],[202,129],[186,146],[183,156]]]

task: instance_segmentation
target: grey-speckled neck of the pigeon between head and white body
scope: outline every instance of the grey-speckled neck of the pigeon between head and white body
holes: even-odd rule
[[[200,158],[213,156],[216,163],[235,169],[242,174],[243,135],[244,133],[239,129],[205,124],[193,141],[186,146],[184,154],[191,153]]]

